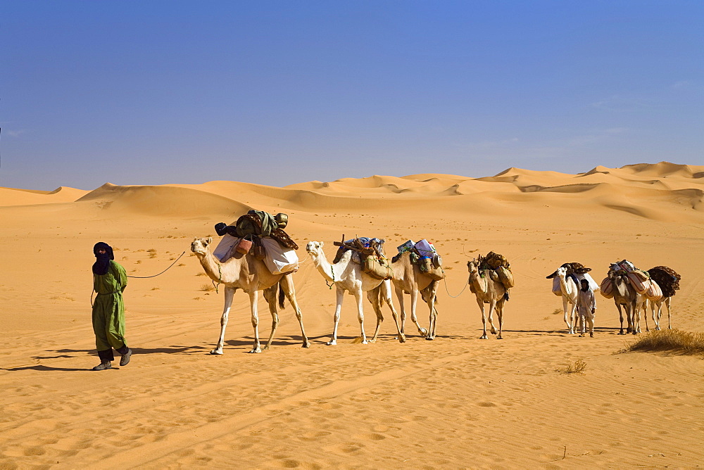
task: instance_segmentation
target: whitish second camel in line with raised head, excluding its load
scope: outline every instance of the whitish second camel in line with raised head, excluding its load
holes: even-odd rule
[[[332,337],[326,344],[337,344],[337,327],[340,322],[340,312],[342,310],[342,301],[344,300],[345,292],[351,293],[357,302],[357,317],[359,320],[362,344],[368,343],[367,336],[364,333],[363,292],[367,293],[367,299],[372,303],[372,307],[377,314],[377,328],[374,331],[371,342],[374,343],[377,341],[379,327],[384,321],[381,309],[382,301],[391,308],[391,314],[394,316],[394,322],[396,322],[396,331],[398,331],[398,341],[401,343],[406,342],[406,335],[401,331],[394,303],[391,302],[391,282],[388,279],[375,279],[363,272],[361,265],[358,262],[352,261],[351,250],[347,250],[338,262],[331,265],[325,257],[325,252],[322,250],[324,244],[325,243],[322,241],[310,241],[306,245],[306,253],[310,255],[310,259],[313,260],[313,265],[318,268],[318,271],[322,274],[322,277],[325,278],[325,281],[332,282],[337,288],[337,306],[335,307],[334,327]]]

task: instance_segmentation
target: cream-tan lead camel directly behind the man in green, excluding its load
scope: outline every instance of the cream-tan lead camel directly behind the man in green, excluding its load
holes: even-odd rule
[[[252,326],[254,328],[254,345],[249,352],[261,352],[259,343],[259,316],[257,311],[258,292],[264,291],[264,298],[269,304],[271,312],[271,334],[269,341],[264,346],[268,350],[271,341],[276,333],[276,327],[279,324],[279,317],[276,311],[276,289],[279,287],[279,307],[284,308],[284,296],[289,299],[289,302],[296,310],[296,319],[301,325],[301,335],[303,335],[303,348],[310,348],[310,341],[306,336],[306,331],[303,329],[303,315],[296,301],[296,289],[294,281],[291,279],[292,273],[287,274],[272,274],[263,260],[254,258],[253,255],[237,254],[234,258],[230,258],[225,262],[220,262],[210,253],[208,246],[213,242],[212,237],[207,239],[194,239],[191,243],[191,251],[198,257],[201,266],[205,269],[206,274],[213,281],[219,284],[225,284],[225,308],[222,310],[220,319],[220,338],[218,345],[210,351],[210,354],[222,354],[222,346],[225,342],[225,327],[227,326],[227,317],[230,315],[230,307],[232,306],[232,298],[237,289],[242,289],[249,293],[249,304],[252,312]]]

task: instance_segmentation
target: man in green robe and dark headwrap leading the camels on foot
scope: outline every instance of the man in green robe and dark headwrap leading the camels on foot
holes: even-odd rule
[[[125,303],[122,291],[127,287],[125,268],[118,265],[113,248],[102,241],[93,247],[93,290],[98,293],[93,304],[93,332],[100,364],[94,371],[112,369],[113,348],[120,354],[120,365],[130,362],[132,350],[125,341]]]

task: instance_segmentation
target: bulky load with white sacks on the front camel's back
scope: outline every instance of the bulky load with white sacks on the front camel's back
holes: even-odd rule
[[[233,224],[215,224],[215,231],[222,240],[213,255],[225,262],[248,253],[262,260],[272,274],[284,274],[298,269],[298,245],[284,231],[288,216],[271,215],[260,210],[250,210]]]

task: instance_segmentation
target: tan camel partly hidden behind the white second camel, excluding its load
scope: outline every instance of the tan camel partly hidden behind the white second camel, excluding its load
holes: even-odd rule
[[[427,340],[435,339],[435,331],[437,326],[438,311],[435,308],[435,295],[437,292],[439,281],[429,277],[420,270],[418,265],[410,262],[410,252],[398,255],[395,262],[391,262],[391,269],[394,271],[394,277],[391,282],[394,284],[396,298],[401,305],[401,333],[406,333],[406,306],[403,305],[403,294],[410,294],[410,319],[415,323],[418,333],[425,336]],[[415,315],[415,307],[418,302],[418,293],[422,300],[428,304],[430,308],[430,323],[429,329],[425,329],[418,323]]]

